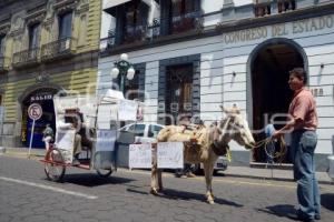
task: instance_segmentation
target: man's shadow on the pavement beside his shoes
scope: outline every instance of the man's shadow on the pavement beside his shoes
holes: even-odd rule
[[[291,204],[271,205],[271,206],[266,206],[265,209],[257,209],[257,210],[279,218],[296,220],[295,216],[296,210],[294,205]]]

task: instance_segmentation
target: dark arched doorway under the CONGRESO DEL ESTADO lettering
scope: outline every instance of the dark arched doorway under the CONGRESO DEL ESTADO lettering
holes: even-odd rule
[[[250,58],[248,85],[250,83],[252,105],[248,108],[254,137],[259,141],[266,138],[264,128],[271,120],[276,129],[284,125],[293,95],[287,84],[289,71],[296,67],[305,68],[307,60],[303,49],[287,39],[274,39],[259,44]],[[275,149],[278,151],[279,144]],[[253,161],[268,162],[271,158],[259,148],[254,150]],[[275,161],[291,163],[288,152],[282,160],[277,158]]]

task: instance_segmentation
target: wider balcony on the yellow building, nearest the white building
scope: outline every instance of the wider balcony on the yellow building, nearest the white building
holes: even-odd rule
[[[76,52],[77,40],[73,38],[59,39],[55,42],[43,44],[41,48],[41,60],[56,60],[72,57]]]

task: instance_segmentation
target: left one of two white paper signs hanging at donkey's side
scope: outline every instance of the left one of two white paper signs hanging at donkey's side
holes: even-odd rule
[[[150,169],[151,168],[151,144],[130,144],[129,168]]]

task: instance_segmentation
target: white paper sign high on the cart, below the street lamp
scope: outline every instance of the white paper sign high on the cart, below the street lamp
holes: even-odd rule
[[[119,120],[137,120],[138,103],[131,100],[120,100],[118,107]]]

